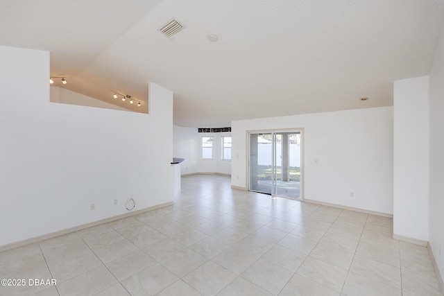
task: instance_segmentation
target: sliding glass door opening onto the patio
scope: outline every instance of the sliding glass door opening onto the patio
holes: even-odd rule
[[[250,191],[300,199],[300,134],[250,132]]]

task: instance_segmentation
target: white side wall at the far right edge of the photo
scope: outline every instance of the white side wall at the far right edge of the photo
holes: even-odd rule
[[[429,243],[444,280],[444,28],[430,71]],[[444,252],[444,250],[443,250]]]

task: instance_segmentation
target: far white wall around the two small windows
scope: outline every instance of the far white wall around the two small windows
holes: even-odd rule
[[[231,161],[222,160],[221,137],[230,132],[198,132],[197,128],[182,128],[174,125],[174,156],[185,158],[181,164],[181,175],[195,173],[231,174]],[[213,137],[213,159],[202,159],[202,137]]]

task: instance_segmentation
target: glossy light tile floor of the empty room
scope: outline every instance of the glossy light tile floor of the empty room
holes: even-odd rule
[[[443,295],[390,218],[182,178],[171,207],[0,253],[0,295]]]

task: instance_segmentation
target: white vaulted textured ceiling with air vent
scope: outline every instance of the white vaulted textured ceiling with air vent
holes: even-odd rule
[[[172,18],[185,28],[168,38]],[[394,80],[429,73],[443,24],[443,0],[0,1],[0,45],[50,51],[63,87],[146,106],[155,82],[191,127],[393,105]]]

